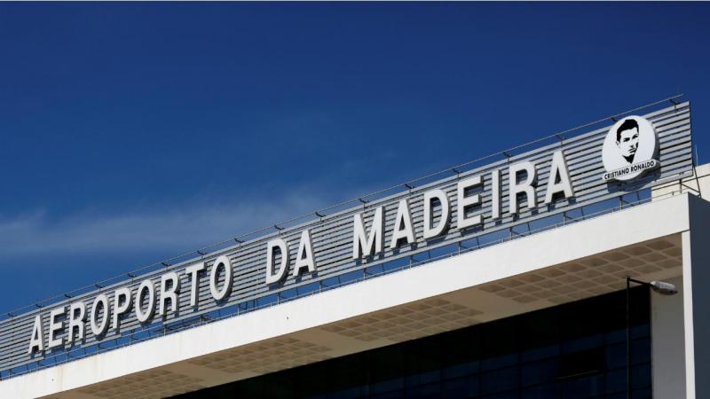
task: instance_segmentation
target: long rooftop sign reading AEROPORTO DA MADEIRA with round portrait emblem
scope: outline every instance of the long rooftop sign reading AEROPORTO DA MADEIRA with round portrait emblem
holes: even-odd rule
[[[442,144],[444,145],[444,144]],[[0,371],[570,212],[692,167],[690,105],[471,168],[0,323]],[[297,292],[297,291],[296,291]]]

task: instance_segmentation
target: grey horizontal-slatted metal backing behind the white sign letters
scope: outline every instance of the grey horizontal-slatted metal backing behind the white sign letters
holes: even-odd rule
[[[572,210],[577,207],[585,206],[602,200],[609,200],[635,192],[640,189],[649,188],[654,184],[666,183],[675,179],[682,178],[690,173],[692,168],[692,140],[690,133],[690,103],[685,102],[675,106],[670,106],[660,109],[653,113],[643,115],[645,118],[653,122],[659,136],[659,161],[661,167],[653,174],[644,176],[633,184],[607,184],[601,176],[604,174],[604,166],[602,164],[601,149],[604,142],[604,137],[609,129],[596,129],[586,134],[581,134],[576,137],[561,139],[556,143],[544,145],[526,153],[520,153],[509,157],[491,162],[479,168],[473,168],[466,171],[461,171],[453,176],[440,179],[436,182],[423,184],[402,192],[389,195],[382,199],[372,200],[363,203],[359,207],[351,207],[344,209],[333,215],[316,217],[313,220],[301,223],[296,226],[284,228],[280,231],[274,231],[269,234],[264,234],[262,237],[252,239],[241,244],[229,246],[220,251],[205,254],[200,258],[195,258],[185,262],[179,262],[174,265],[165,267],[162,270],[152,270],[143,275],[130,278],[125,281],[97,289],[90,293],[83,293],[74,298],[65,301],[58,301],[51,306],[45,306],[42,309],[36,309],[19,316],[11,317],[0,322],[0,370],[8,370],[20,365],[35,362],[43,356],[51,356],[57,353],[63,353],[66,349],[59,347],[53,351],[47,350],[44,353],[36,354],[35,356],[28,355],[28,345],[30,335],[34,323],[34,318],[37,313],[43,317],[43,329],[45,340],[48,335],[46,325],[49,324],[49,311],[61,306],[68,305],[75,301],[84,301],[86,303],[87,314],[91,312],[91,303],[99,293],[107,293],[111,307],[113,308],[113,292],[116,288],[127,286],[130,287],[132,293],[138,287],[138,284],[146,279],[152,278],[155,283],[156,298],[160,297],[160,276],[168,271],[177,271],[180,273],[180,284],[183,289],[178,295],[179,310],[170,314],[169,317],[155,316],[153,324],[171,323],[183,320],[190,317],[203,315],[217,309],[233,306],[244,301],[251,301],[259,298],[264,298],[275,293],[282,293],[287,290],[292,290],[296,287],[306,286],[313,283],[320,283],[323,280],[343,276],[355,270],[363,270],[383,262],[390,262],[398,258],[404,258],[413,254],[420,254],[429,251],[433,248],[451,245],[463,240],[473,239],[481,234],[490,233],[493,231],[501,231],[509,229],[511,226],[520,223],[529,223],[534,220],[556,215],[564,211]],[[538,181],[546,182],[549,175],[550,162],[555,151],[562,150],[567,161],[572,186],[575,191],[573,200],[559,200],[548,206],[540,206],[534,211],[522,208],[522,211],[516,215],[508,215],[505,211],[509,204],[507,195],[508,174],[505,173],[507,167],[517,162],[518,160],[531,160],[536,165]],[[496,169],[501,169],[501,209],[503,209],[502,217],[493,221],[491,219],[491,178],[490,172]],[[456,226],[456,184],[462,179],[470,176],[483,176],[483,190],[481,193],[481,207],[477,212],[482,212],[483,226],[477,228],[469,228],[458,230]],[[451,202],[451,228],[438,237],[430,239],[428,242],[422,240],[422,225],[423,225],[423,210],[422,210],[422,194],[428,190],[439,188],[446,192]],[[538,201],[541,204],[544,200],[544,187],[540,187],[536,191]],[[394,224],[395,215],[397,212],[398,200],[408,198],[410,200],[410,209],[414,225],[415,237],[417,242],[412,245],[402,245],[396,250],[390,250],[388,246],[384,246],[383,254],[375,256],[375,258],[367,259],[367,262],[354,261],[351,259],[352,246],[352,216],[357,213],[363,213],[363,219],[366,225],[372,223],[371,211],[375,207],[384,207],[384,242],[389,243],[391,230]],[[524,201],[525,203],[525,201]],[[435,212],[435,220],[439,217]],[[281,286],[267,286],[264,283],[265,262],[266,262],[266,242],[274,237],[286,239],[289,243],[291,259],[296,257],[298,239],[301,231],[311,229],[313,254],[315,256],[318,271],[314,274],[301,275],[299,278],[293,278],[288,274],[288,278]],[[216,302],[209,294],[209,270],[212,262],[217,256],[225,254],[229,257],[233,264],[233,289],[232,293],[227,297],[226,301]],[[206,262],[207,268],[202,273],[199,286],[198,306],[196,309],[190,307],[190,281],[188,276],[183,273],[186,266],[195,262]],[[130,310],[130,314],[122,317],[121,330],[115,332],[113,328],[106,332],[106,335],[100,340],[93,335],[89,324],[85,328],[85,337],[83,346],[91,346],[97,342],[106,342],[121,338],[126,334],[140,328],[135,317],[134,303]]]

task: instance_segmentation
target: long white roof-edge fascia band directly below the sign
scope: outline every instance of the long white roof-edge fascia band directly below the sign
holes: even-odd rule
[[[36,397],[146,371],[430,296],[687,231],[688,196],[461,254],[240,317],[0,382],[0,397]],[[690,396],[689,396],[690,397]]]

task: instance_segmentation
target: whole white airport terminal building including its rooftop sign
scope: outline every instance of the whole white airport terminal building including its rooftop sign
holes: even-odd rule
[[[710,397],[692,148],[669,98],[12,311],[0,398]]]

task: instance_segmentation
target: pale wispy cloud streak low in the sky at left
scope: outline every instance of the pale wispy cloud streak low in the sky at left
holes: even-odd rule
[[[235,205],[196,204],[114,214],[86,211],[59,218],[36,210],[0,218],[0,257],[146,250],[174,255],[322,206],[318,198],[297,195]]]

